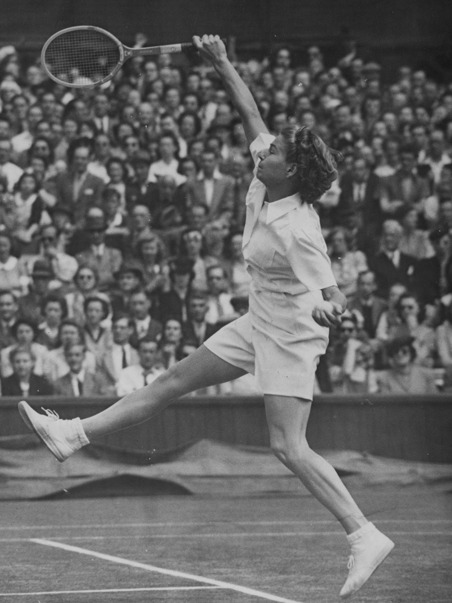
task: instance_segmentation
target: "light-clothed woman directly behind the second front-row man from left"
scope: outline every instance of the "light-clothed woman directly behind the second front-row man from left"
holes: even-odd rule
[[[85,335],[82,327],[70,318],[64,318],[60,324],[60,333],[58,334],[58,347],[50,350],[43,360],[43,373],[51,383],[63,377],[69,371],[69,365],[66,362],[64,348],[72,343],[85,344]],[[95,373],[96,358],[92,352],[86,351],[83,368],[89,373]]]

